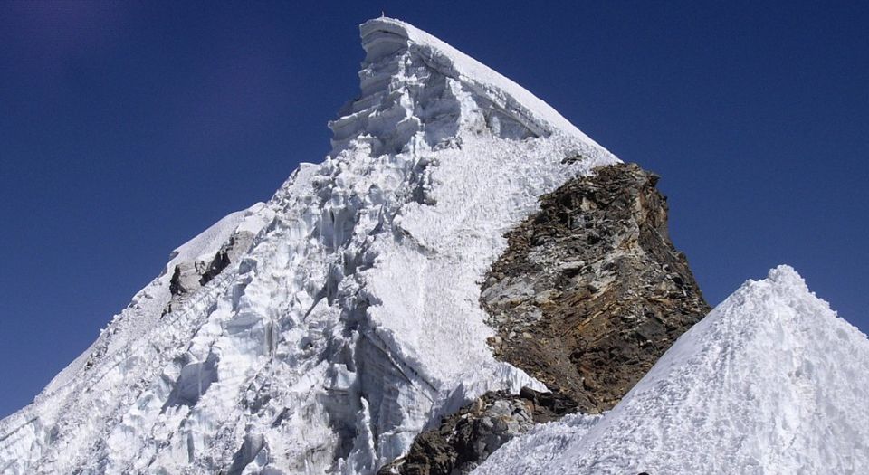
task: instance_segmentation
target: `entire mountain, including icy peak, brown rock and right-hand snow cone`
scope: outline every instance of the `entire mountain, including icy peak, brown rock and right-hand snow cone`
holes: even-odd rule
[[[415,473],[460,448],[499,475],[869,465],[869,340],[796,271],[746,282],[645,373],[707,309],[657,177],[428,33],[360,33],[329,154],[172,252],[0,421],[0,472]],[[570,394],[620,402],[501,445]]]

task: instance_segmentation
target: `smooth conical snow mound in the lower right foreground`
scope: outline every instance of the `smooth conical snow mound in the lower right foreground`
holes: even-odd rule
[[[869,339],[788,266],[746,282],[612,412],[515,439],[473,473],[864,473]]]

